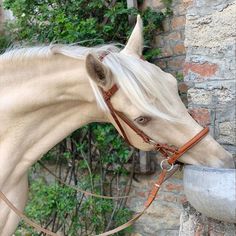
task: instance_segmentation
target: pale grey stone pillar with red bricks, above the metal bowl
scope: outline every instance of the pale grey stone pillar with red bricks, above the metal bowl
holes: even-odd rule
[[[195,1],[188,10],[184,64],[188,107],[211,134],[235,149],[235,1]]]

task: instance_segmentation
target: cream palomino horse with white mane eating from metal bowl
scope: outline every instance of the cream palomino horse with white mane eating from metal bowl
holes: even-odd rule
[[[51,45],[10,50],[0,57],[0,190],[20,210],[27,201],[27,170],[54,145],[90,122],[111,122],[101,95],[114,83],[112,97],[153,140],[180,147],[202,127],[181,102],[176,79],[141,58],[142,21],[123,50]],[[103,61],[98,57],[104,56]],[[132,145],[151,150],[123,121]],[[233,167],[232,156],[209,134],[180,161]],[[19,218],[0,201],[0,235],[12,235]]]

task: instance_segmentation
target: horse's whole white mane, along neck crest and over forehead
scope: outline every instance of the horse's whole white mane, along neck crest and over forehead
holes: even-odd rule
[[[119,53],[120,49],[115,45],[103,45],[87,48],[81,46],[49,45],[31,48],[13,49],[0,56],[1,61],[22,61],[35,57],[48,58],[54,54],[63,54],[73,58],[85,58],[86,54],[108,54],[103,63],[107,65],[117,79],[116,83],[131,98],[133,105],[146,114],[158,116],[167,120],[175,120],[171,114],[173,106],[172,94],[168,89],[167,76],[158,67],[139,58]],[[108,111],[106,103],[98,86],[90,80],[97,103],[104,111]],[[165,107],[168,112],[163,112],[158,107]],[[168,114],[167,114],[168,113]]]

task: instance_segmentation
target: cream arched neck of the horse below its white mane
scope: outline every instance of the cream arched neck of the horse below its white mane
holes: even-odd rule
[[[10,157],[14,166],[23,162],[30,166],[79,127],[106,121],[95,102],[84,60],[55,55],[0,62],[0,71],[2,167],[2,157]]]

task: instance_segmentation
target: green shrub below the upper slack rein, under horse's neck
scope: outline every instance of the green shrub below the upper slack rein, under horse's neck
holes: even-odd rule
[[[52,228],[60,228],[68,236],[101,233],[105,230],[115,208],[115,203],[112,200],[86,198],[69,187],[57,183],[47,185],[42,179],[32,183],[30,199],[31,201],[26,207],[28,217],[33,218],[41,225],[52,223]],[[130,217],[131,213],[128,209],[119,209],[115,215],[113,227],[125,223]],[[131,228],[125,232],[130,230]],[[38,235],[33,229],[21,222],[16,235],[25,235],[26,232],[33,236]],[[117,235],[124,235],[125,232]]]

